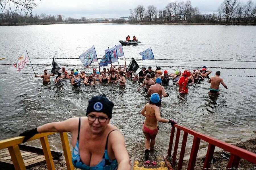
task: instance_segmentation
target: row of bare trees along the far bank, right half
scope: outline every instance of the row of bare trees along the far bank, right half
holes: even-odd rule
[[[187,22],[187,23],[256,23],[256,3],[252,0],[242,4],[238,0],[223,0],[213,14],[201,14],[191,1],[174,1],[164,9],[157,10],[155,5],[138,5],[130,11],[130,22]],[[234,19],[234,20],[233,20]]]

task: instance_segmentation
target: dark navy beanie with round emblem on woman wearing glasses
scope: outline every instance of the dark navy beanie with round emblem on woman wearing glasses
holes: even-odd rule
[[[159,96],[159,95],[158,95]],[[86,116],[90,112],[103,112],[111,119],[114,103],[109,101],[105,94],[94,96],[89,100]]]

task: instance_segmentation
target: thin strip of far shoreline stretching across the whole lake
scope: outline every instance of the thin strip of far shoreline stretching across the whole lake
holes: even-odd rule
[[[113,21],[104,21],[104,22],[39,22],[39,23],[0,23],[0,26],[23,26],[23,25],[52,25],[52,24],[131,24],[131,25],[226,25],[225,23],[186,23],[186,22],[113,22]],[[228,24],[232,25],[232,23]],[[233,24],[235,25],[235,24]],[[239,23],[236,25],[250,25],[255,26],[256,23]]]

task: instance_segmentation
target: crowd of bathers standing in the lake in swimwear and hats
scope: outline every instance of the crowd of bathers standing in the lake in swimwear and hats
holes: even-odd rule
[[[85,73],[85,71],[78,71],[77,69],[71,69],[71,72],[68,73],[65,67],[62,67],[57,72],[57,77],[54,80],[55,83],[63,82],[65,79],[71,80],[73,86],[79,87],[82,83],[86,86],[95,86],[97,83],[114,83],[119,82],[120,88],[125,88],[126,79],[130,78],[134,82],[142,82],[141,86],[138,88],[138,91],[145,86],[145,91],[147,94],[158,93],[160,99],[162,96],[168,97],[169,94],[164,91],[163,84],[168,84],[170,80],[176,82],[176,86],[179,86],[178,90],[180,93],[188,93],[188,84],[193,84],[204,80],[210,75],[211,71],[204,66],[202,69],[193,69],[193,72],[189,70],[184,70],[183,73],[179,70],[176,70],[174,73],[168,73],[167,70],[162,72],[160,67],[156,67],[155,70],[152,70],[152,67],[149,66],[146,70],[145,66],[141,67],[139,73],[129,71],[126,67],[126,61],[124,66],[115,67],[111,64],[110,68],[104,67],[103,70],[99,68],[97,71],[95,68],[92,69],[92,72]],[[44,70],[43,75],[35,75],[35,77],[42,77],[44,83],[50,82],[50,76],[55,76],[54,73],[48,74],[47,70]],[[209,94],[219,94],[219,85],[220,83],[227,88],[226,84],[223,82],[220,76],[220,71],[217,71],[215,76],[212,76],[208,82],[211,83]]]

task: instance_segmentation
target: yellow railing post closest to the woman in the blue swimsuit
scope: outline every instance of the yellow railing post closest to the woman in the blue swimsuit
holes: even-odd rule
[[[67,132],[60,132],[59,134],[61,137],[61,144],[62,144],[63,153],[64,153],[66,164],[67,164],[67,169],[74,170],[74,166],[73,166],[72,158],[71,158],[70,147],[69,147],[69,139],[67,137]]]

